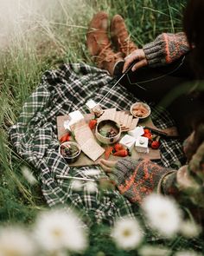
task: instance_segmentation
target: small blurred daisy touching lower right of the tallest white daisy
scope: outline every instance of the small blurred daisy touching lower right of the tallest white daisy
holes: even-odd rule
[[[191,220],[182,221],[180,232],[186,238],[194,238],[201,233],[201,226],[198,226],[194,221]]]

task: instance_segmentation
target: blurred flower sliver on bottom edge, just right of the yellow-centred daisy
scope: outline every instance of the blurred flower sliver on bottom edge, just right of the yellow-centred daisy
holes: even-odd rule
[[[139,249],[141,256],[168,256],[171,251],[163,246],[143,246]]]

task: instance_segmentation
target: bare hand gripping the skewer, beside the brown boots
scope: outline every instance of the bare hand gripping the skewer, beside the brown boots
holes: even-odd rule
[[[126,69],[131,65],[132,62],[137,61],[137,63],[131,68],[131,71],[135,71],[136,69],[147,66],[148,62],[146,56],[144,54],[143,49],[135,49],[129,56],[124,58],[124,69],[123,73]]]

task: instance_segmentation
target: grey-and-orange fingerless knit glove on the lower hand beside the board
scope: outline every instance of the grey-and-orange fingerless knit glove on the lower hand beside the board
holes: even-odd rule
[[[114,170],[120,194],[137,203],[153,190],[158,190],[163,177],[171,172],[150,160],[136,161],[130,157],[119,160]]]

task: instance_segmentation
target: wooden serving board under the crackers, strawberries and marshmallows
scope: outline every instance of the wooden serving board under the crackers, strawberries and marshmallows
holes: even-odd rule
[[[92,114],[87,114],[85,115],[85,119],[88,122],[89,120],[91,120],[92,118],[94,118],[94,115]],[[60,115],[57,116],[57,132],[58,132],[58,139],[60,140],[60,138],[65,135],[67,133],[67,130],[64,128],[64,121],[67,121],[68,119],[68,115]],[[138,125],[140,126],[147,126],[150,128],[156,128],[156,126],[153,124],[152,120],[150,117],[143,119],[141,121],[139,121]],[[138,126],[137,125],[137,126]],[[157,129],[157,128],[156,128]],[[175,129],[175,128],[173,128]],[[172,133],[172,128],[168,128],[168,129],[163,129],[161,131],[165,131],[168,133]],[[124,136],[124,133],[122,133],[122,136]],[[103,148],[107,147],[106,145],[101,145]],[[132,149],[131,151],[131,157],[134,159],[139,159],[139,158],[148,158],[150,160],[154,160],[154,159],[160,159],[160,150],[159,149],[152,149],[149,147],[149,153],[148,154],[144,154],[144,153],[138,153],[136,151],[135,148]],[[105,155],[102,154],[99,159],[104,159]],[[70,167],[84,167],[84,166],[94,166],[94,165],[98,165],[98,161],[92,161],[89,157],[86,156],[86,154],[84,154],[83,152],[81,152],[80,154],[80,158],[75,161],[72,164],[69,164]],[[111,161],[118,161],[119,159],[121,159],[121,157],[119,156],[114,156],[114,155],[110,155],[109,160]]]

